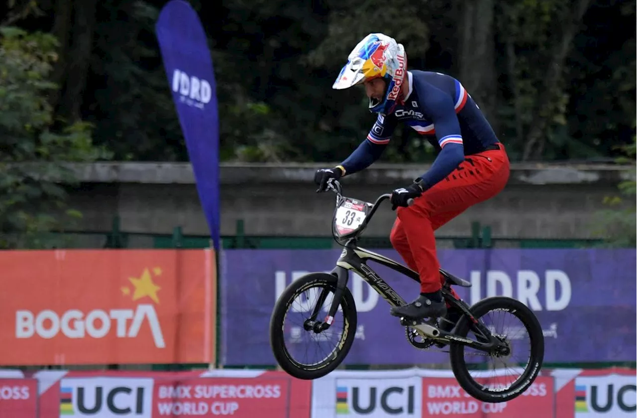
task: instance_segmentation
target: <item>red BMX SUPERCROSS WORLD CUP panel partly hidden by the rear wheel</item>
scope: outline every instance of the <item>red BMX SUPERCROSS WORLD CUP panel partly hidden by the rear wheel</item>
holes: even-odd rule
[[[512,401],[485,403],[469,396],[452,377],[422,379],[422,417],[448,418],[536,418],[552,417],[552,377],[538,377]]]

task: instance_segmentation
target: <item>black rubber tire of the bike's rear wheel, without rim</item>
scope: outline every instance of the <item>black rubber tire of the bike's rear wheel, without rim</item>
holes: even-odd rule
[[[473,398],[489,403],[510,401],[524,393],[538,377],[544,361],[544,335],[540,321],[533,314],[533,311],[516,299],[495,296],[482,299],[482,301],[471,306],[471,313],[476,319],[480,319],[480,317],[495,309],[513,310],[513,314],[522,321],[531,339],[531,359],[524,373],[522,373],[522,378],[519,378],[512,387],[501,392],[484,391],[482,386],[477,384],[469,375],[469,370],[464,361],[464,345],[452,343],[449,349],[451,368],[462,389]],[[456,335],[466,337],[470,326],[468,317],[463,316],[458,322]]]

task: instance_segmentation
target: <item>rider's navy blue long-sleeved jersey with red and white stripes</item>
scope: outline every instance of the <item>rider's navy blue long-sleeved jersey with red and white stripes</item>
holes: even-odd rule
[[[412,127],[439,150],[421,177],[429,188],[447,177],[465,155],[482,152],[498,142],[487,119],[462,84],[452,76],[408,71],[409,92],[389,115],[378,115],[359,147],[341,163],[347,174],[367,168],[382,154],[398,122]]]

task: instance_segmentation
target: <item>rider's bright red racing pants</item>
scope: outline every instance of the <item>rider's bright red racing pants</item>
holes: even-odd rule
[[[408,208],[397,208],[390,241],[405,263],[420,275],[420,292],[441,289],[434,231],[470,206],[496,196],[509,178],[504,146],[468,155],[447,178],[425,191]],[[457,294],[454,292],[457,298]]]

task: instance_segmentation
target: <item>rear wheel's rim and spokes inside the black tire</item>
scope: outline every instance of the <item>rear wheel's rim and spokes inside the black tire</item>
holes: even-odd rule
[[[478,318],[476,318],[478,319]],[[534,371],[534,342],[519,311],[492,309],[479,321],[503,342],[503,350],[488,354],[463,347],[464,368],[475,386],[487,393],[503,394],[519,388]],[[479,340],[473,331],[467,338]]]

